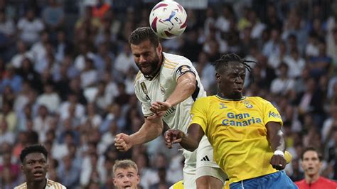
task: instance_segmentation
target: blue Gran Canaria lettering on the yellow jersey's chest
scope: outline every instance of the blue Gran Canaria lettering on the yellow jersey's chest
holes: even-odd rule
[[[251,117],[248,113],[234,114],[228,112],[227,117],[228,119],[223,119],[221,122],[224,126],[249,126],[251,124],[262,123],[260,117]]]

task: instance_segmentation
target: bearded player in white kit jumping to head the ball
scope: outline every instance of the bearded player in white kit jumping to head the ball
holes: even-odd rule
[[[144,124],[132,135],[117,134],[115,146],[119,151],[156,139],[169,128],[187,131],[193,102],[206,96],[191,61],[164,53],[151,28],[137,28],[131,33],[129,44],[140,70],[134,87],[141,102]],[[184,188],[223,187],[226,175],[213,161],[213,148],[205,136],[196,151],[183,151],[183,156],[186,158]]]

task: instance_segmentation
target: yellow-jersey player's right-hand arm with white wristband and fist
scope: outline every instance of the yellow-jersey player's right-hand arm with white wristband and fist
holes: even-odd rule
[[[286,167],[286,159],[284,158],[285,142],[282,131],[282,126],[278,122],[270,121],[266,125],[267,127],[267,139],[274,155],[270,159],[270,164],[277,170],[282,170]]]

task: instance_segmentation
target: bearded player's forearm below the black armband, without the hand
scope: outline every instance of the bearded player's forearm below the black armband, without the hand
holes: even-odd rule
[[[183,102],[185,99],[190,97],[194,90],[196,90],[196,83],[193,80],[185,79],[178,83],[176,89],[170,95],[166,102],[171,104],[171,107]]]

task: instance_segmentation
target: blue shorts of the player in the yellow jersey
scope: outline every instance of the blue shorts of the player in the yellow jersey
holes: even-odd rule
[[[298,188],[284,171],[231,183],[230,189]]]

